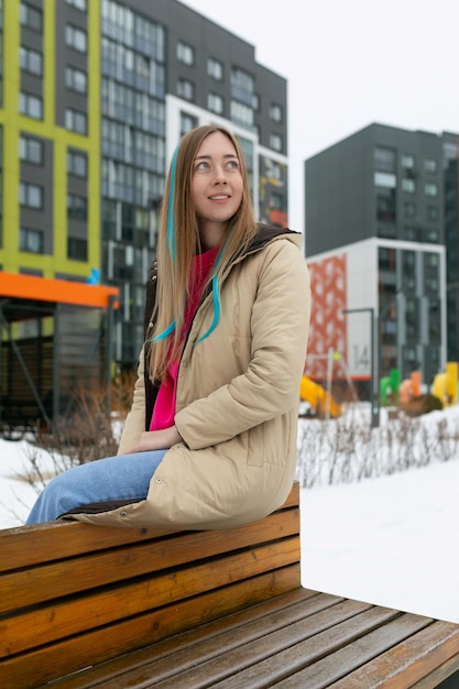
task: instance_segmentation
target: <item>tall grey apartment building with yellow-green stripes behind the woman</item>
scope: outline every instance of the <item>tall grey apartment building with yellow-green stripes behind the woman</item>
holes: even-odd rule
[[[182,134],[236,131],[259,220],[286,225],[286,80],[177,0],[0,0],[0,269],[118,287],[132,368]]]

